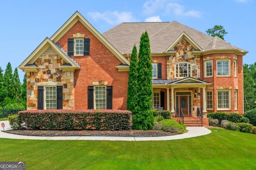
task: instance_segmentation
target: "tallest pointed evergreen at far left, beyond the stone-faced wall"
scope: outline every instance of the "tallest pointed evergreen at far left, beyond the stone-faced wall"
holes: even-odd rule
[[[14,79],[12,74],[12,66],[10,62],[7,64],[4,72],[3,85],[7,92],[7,97],[10,99],[13,99],[14,98]]]

